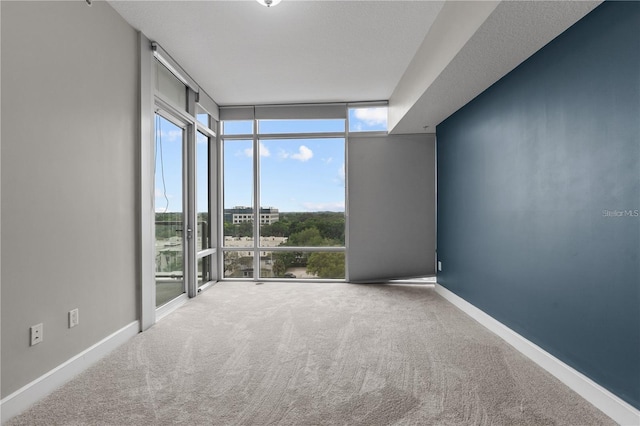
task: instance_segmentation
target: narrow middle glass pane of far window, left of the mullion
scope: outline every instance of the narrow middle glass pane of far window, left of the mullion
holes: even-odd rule
[[[253,246],[253,141],[224,142],[224,246]]]

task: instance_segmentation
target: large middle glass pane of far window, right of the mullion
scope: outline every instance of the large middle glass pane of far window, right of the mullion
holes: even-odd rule
[[[344,247],[344,139],[264,140],[261,146],[269,155],[260,158],[260,200],[273,206],[261,212],[261,244],[262,237],[274,237],[285,238],[280,246]]]

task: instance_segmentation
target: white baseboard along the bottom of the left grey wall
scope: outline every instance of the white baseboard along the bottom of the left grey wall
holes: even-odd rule
[[[17,416],[140,332],[134,321],[0,401],[2,423]]]

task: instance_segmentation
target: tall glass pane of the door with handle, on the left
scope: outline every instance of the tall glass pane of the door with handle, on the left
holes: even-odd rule
[[[184,293],[183,130],[156,116],[156,306]]]

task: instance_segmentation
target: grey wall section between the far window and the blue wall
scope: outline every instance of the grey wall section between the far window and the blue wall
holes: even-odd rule
[[[435,137],[351,136],[351,282],[435,275]]]

